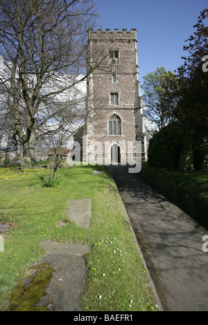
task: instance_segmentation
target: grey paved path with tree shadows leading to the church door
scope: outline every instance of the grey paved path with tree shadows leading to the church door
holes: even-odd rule
[[[208,231],[128,166],[109,168],[164,310],[208,310]]]

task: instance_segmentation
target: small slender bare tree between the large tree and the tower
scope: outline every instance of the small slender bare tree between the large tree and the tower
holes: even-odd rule
[[[72,146],[74,134],[85,125],[85,93],[86,83],[80,82],[71,91],[56,96],[53,104],[40,109],[37,133],[44,148],[50,151],[51,180],[56,179],[62,156],[71,149],[70,140]]]

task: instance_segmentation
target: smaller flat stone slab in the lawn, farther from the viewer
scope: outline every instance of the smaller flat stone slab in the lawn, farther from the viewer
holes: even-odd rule
[[[82,198],[69,201],[67,218],[75,221],[78,227],[89,228],[92,216],[92,199]]]

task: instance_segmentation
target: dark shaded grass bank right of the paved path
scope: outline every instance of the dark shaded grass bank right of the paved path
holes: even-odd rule
[[[143,163],[140,175],[198,222],[208,227],[207,172],[162,169]]]

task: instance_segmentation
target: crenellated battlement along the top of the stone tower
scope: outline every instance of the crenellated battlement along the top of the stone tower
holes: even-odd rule
[[[123,28],[122,31],[119,31],[118,28],[114,28],[114,31],[111,31],[110,28],[106,28],[106,30],[102,30],[98,28],[98,30],[94,31],[89,29],[89,39],[98,41],[99,39],[102,40],[137,40],[137,29],[132,28],[129,32],[126,28]]]

